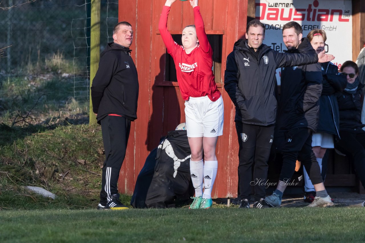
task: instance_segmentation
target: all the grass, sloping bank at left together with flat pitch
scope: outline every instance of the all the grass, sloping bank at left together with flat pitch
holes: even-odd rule
[[[104,160],[100,126],[0,125],[0,137],[1,243],[365,240],[364,207],[242,210],[214,204],[207,210],[97,211]],[[26,185],[57,197],[35,195]],[[121,197],[126,205],[130,200]]]

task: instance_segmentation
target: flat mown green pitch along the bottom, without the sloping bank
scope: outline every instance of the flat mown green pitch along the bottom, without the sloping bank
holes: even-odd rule
[[[3,211],[2,242],[355,242],[364,208]]]

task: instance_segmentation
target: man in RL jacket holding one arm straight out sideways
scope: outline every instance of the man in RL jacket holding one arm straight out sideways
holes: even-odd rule
[[[246,39],[238,40],[227,56],[224,89],[236,108],[235,123],[239,143],[238,184],[240,208],[250,207],[251,185],[254,207],[268,207],[265,183],[268,158],[273,142],[277,101],[275,70],[318,62],[316,54],[286,54],[262,44],[265,27],[258,20],[247,24]],[[321,62],[331,57],[323,55]],[[251,168],[254,165],[254,179]]]

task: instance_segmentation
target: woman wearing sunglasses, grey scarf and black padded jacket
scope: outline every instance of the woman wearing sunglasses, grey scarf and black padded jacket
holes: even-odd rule
[[[358,73],[357,64],[353,61],[346,61],[341,66],[341,75],[347,78],[347,86],[336,94],[340,111],[340,139],[335,143],[335,148],[352,158],[356,174],[365,188],[365,131],[362,130],[365,125],[361,123],[364,85],[360,83]]]

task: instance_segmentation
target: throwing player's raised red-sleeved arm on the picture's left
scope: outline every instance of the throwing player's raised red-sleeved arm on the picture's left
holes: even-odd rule
[[[176,0],[166,0],[164,7],[162,8],[162,13],[160,16],[160,21],[158,22],[158,30],[160,31],[161,38],[165,43],[166,49],[168,53],[171,53],[174,46],[177,44],[172,39],[172,36],[167,29],[167,19],[170,12],[171,4],[173,4]]]

